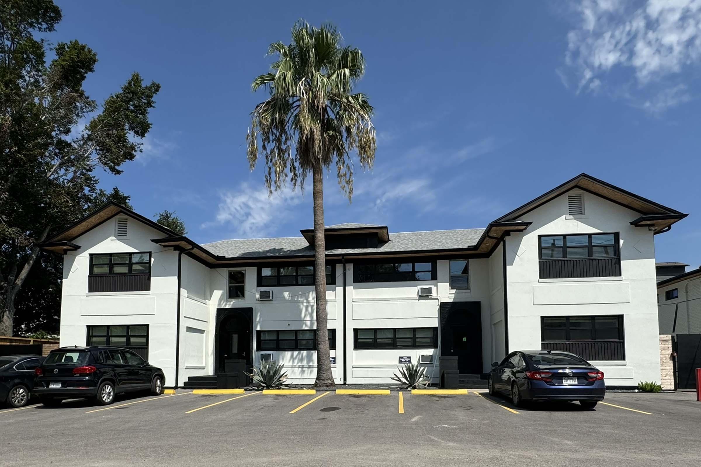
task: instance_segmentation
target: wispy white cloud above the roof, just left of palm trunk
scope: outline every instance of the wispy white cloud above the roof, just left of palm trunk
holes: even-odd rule
[[[215,221],[205,222],[202,228],[229,225],[243,238],[268,237],[278,225],[294,216],[294,206],[303,202],[301,193],[290,188],[268,196],[268,189],[251,188],[241,183],[237,190],[219,193],[219,207]]]

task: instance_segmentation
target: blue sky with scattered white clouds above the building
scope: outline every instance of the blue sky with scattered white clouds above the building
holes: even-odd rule
[[[692,2],[57,2],[51,41],[98,54],[102,101],[139,71],[161,83],[144,153],[102,174],[146,216],[170,209],[198,242],[299,235],[311,190],[268,198],[245,134],[273,41],[298,18],[362,50],[376,164],[348,204],[325,183],[327,225],[390,232],[484,227],[587,172],[690,213],[658,261],[701,264],[701,6]]]

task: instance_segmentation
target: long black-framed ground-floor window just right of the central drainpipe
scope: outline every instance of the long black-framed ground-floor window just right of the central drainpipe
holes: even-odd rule
[[[436,349],[438,328],[354,329],[354,349]]]

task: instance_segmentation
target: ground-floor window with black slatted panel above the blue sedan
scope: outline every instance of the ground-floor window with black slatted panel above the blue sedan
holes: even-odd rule
[[[623,316],[542,316],[543,349],[562,350],[586,360],[625,360]]]

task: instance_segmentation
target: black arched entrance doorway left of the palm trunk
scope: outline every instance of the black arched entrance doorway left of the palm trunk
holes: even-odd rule
[[[215,371],[226,379],[226,386],[247,386],[252,358],[252,310],[217,310],[217,334],[215,335]]]

